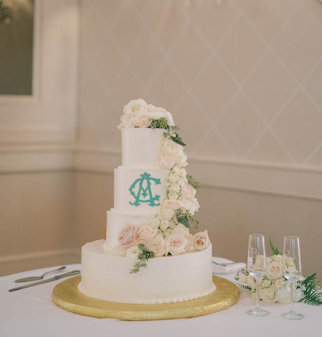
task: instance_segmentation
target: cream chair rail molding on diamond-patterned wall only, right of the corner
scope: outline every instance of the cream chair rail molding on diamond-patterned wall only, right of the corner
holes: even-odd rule
[[[322,200],[322,169],[311,166],[277,166],[246,161],[188,157],[189,173],[202,185],[290,197]],[[121,152],[77,148],[74,168],[113,174],[121,165]]]

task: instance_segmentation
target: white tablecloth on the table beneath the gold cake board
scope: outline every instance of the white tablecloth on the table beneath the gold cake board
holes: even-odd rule
[[[0,278],[1,337],[322,336],[321,307],[298,303],[295,308],[304,314],[305,318],[300,321],[286,321],[280,318],[279,314],[288,311],[289,305],[262,304],[271,314],[266,317],[251,317],[245,311],[252,308],[254,302],[250,299],[249,292],[244,289],[241,289],[239,301],[226,310],[196,318],[159,321],[91,318],[60,309],[51,301],[51,292],[54,286],[64,279],[8,292],[9,288],[18,286],[14,280],[41,275],[53,269],[55,268],[43,268]],[[80,264],[68,265],[66,272],[74,269],[80,269]],[[219,276],[232,281],[234,274]]]

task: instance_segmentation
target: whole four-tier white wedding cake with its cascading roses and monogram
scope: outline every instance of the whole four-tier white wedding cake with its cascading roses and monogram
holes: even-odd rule
[[[184,167],[185,144],[170,112],[131,100],[118,128],[122,165],[114,170],[114,208],[105,240],[81,250],[85,296],[121,303],[169,303],[209,295],[207,231],[192,235],[199,183]]]

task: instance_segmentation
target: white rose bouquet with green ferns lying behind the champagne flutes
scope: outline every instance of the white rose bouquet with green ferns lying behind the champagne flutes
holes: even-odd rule
[[[266,258],[266,274],[259,280],[259,298],[268,303],[290,303],[291,289],[290,283],[282,274],[282,255],[269,240],[272,256]],[[294,268],[292,258],[286,258],[286,268]],[[322,287],[316,279],[316,273],[301,277],[295,282],[293,289],[294,302],[304,301],[311,305],[322,305]],[[256,297],[256,280],[251,276],[246,268],[241,269],[235,275],[235,280],[240,286],[252,292],[252,298]]]

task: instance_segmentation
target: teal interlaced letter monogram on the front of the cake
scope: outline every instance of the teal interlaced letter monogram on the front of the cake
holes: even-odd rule
[[[151,174],[146,173],[146,172],[141,174],[141,177],[142,178],[135,180],[134,183],[129,188],[130,193],[135,198],[135,201],[133,203],[129,202],[129,204],[134,205],[134,206],[139,206],[140,203],[149,203],[149,206],[151,207],[159,206],[160,202],[156,204],[155,201],[156,200],[160,201],[160,195],[157,195],[157,194],[155,196],[152,195],[151,181],[154,181],[156,185],[159,185],[161,184],[160,179],[151,178]],[[144,184],[144,187],[143,187],[144,182],[146,182],[146,185]],[[139,190],[138,192],[134,192],[133,188],[135,188],[137,184],[139,184]],[[148,194],[149,194],[149,199],[145,199]],[[144,200],[140,199],[141,196],[144,198]]]

